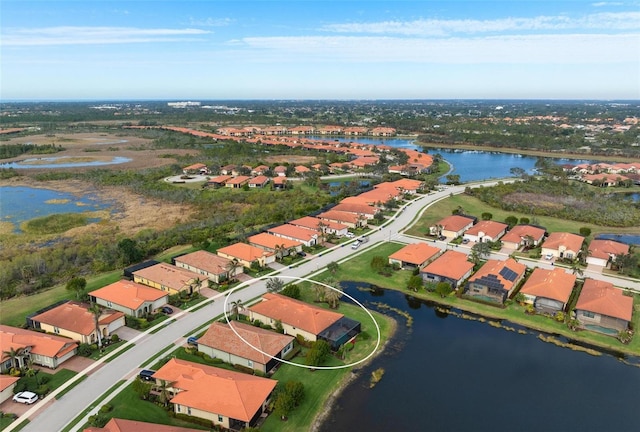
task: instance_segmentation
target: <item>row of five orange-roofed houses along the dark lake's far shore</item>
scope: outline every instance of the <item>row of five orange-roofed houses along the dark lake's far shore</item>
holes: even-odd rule
[[[527,267],[513,258],[486,261],[473,273],[467,254],[443,252],[425,243],[409,244],[389,256],[389,263],[402,268],[418,268],[425,282],[447,282],[454,289],[465,286],[466,295],[503,304],[525,280]],[[565,269],[535,268],[519,292],[538,313],[569,312],[569,300],[577,277]],[[574,317],[588,330],[617,335],[632,320],[633,298],[613,284],[587,278],[575,305]]]

